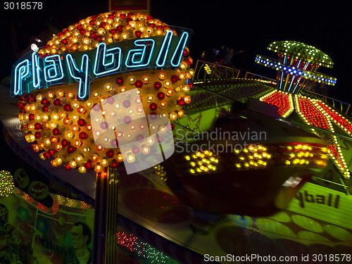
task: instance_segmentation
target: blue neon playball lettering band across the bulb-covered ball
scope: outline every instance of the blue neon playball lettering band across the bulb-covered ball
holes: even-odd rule
[[[102,42],[90,51],[44,58],[30,52],[13,66],[11,96],[77,83],[77,96],[84,101],[89,97],[90,83],[96,78],[145,68],[177,68],[187,42],[189,32],[183,31],[178,37],[170,30],[165,36],[108,45]]]

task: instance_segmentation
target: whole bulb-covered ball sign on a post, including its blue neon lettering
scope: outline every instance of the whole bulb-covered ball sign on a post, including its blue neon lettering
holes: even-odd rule
[[[82,173],[87,170],[101,172],[108,166],[117,168],[124,159],[129,163],[138,163],[149,153],[155,153],[155,141],[146,142],[144,139],[148,124],[142,122],[142,117],[151,115],[173,122],[182,118],[182,107],[191,102],[187,92],[191,90],[189,80],[194,70],[190,68],[193,60],[185,46],[188,38],[186,33],[183,30],[179,36],[168,25],[149,15],[123,12],[92,15],[65,28],[39,50],[39,56],[32,55],[31,61],[37,63],[37,70],[28,73],[32,77],[26,80],[27,90],[15,90],[15,95],[23,93],[18,108],[26,141],[43,160],[50,161],[54,167],[63,166],[67,170],[77,169]],[[141,68],[140,61],[147,57],[146,49],[151,55]],[[103,58],[99,61],[101,54]],[[82,56],[82,62],[77,60],[78,56]],[[95,63],[91,63],[94,56]],[[118,62],[109,61],[111,57]],[[43,62],[39,62],[41,58]],[[65,58],[63,64],[61,61],[65,61]],[[84,61],[84,58],[87,59]],[[122,61],[122,58],[126,61]],[[154,60],[152,63],[155,66],[150,63],[151,60]],[[30,59],[26,61],[29,65]],[[165,61],[171,64],[165,65]],[[81,70],[77,68],[78,63],[81,63]],[[84,84],[86,92],[82,95],[83,79],[77,76],[84,73],[84,63],[87,64],[84,69],[87,72],[86,82],[92,83],[90,87]],[[114,65],[118,70],[111,71],[108,68],[113,63],[118,65]],[[130,68],[127,63],[131,63]],[[42,64],[46,66],[38,70]],[[103,73],[97,73],[98,64],[103,68]],[[63,70],[65,65],[69,73],[66,75]],[[89,65],[92,65],[92,70],[89,70]],[[41,79],[39,74],[42,72],[46,75]],[[56,79],[59,80],[48,82],[47,79],[54,79],[53,76],[58,76]],[[77,80],[81,80],[78,92]],[[44,89],[47,87],[49,89]],[[123,100],[119,97],[117,101],[116,96],[120,93],[124,93],[123,96],[130,93],[130,97]],[[94,120],[91,120],[91,112],[95,113]],[[112,122],[103,122],[106,118],[115,118],[110,120],[118,123],[120,117],[123,119],[122,125],[127,127],[123,132],[111,126]],[[141,117],[140,120],[137,120],[138,117]],[[173,129],[172,123],[168,129]],[[104,144],[97,141],[99,137]],[[129,151],[122,152],[118,140],[136,144],[131,145]],[[159,140],[162,142],[163,137],[159,137]],[[127,153],[125,157],[124,153]]]

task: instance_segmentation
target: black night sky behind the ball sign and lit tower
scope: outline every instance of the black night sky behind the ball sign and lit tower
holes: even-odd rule
[[[189,46],[191,56],[225,44],[244,53],[234,57],[241,70],[275,78],[275,70],[254,63],[257,54],[276,57],[266,47],[270,42],[296,40],[329,55],[334,68],[319,71],[337,77],[329,96],[351,103],[351,8],[337,1],[199,1],[151,0],[151,15],[169,25],[194,30]],[[1,4],[2,5],[2,4]],[[18,60],[14,50],[29,51],[30,37],[48,25],[58,30],[89,15],[108,11],[108,0],[43,1],[37,11],[5,11],[1,6],[1,80],[11,74]]]

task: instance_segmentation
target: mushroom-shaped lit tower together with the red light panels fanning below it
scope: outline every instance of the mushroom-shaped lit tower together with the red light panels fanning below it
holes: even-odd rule
[[[328,85],[336,83],[336,78],[315,71],[319,66],[332,68],[331,58],[314,46],[301,42],[272,42],[268,49],[277,52],[279,60],[257,56],[256,62],[277,70],[277,89],[260,97],[260,101],[277,106],[277,112],[283,118],[287,118],[296,110],[307,125],[334,132],[332,126],[334,123],[351,136],[351,121],[319,99],[310,99],[300,94],[308,81]],[[349,179],[351,175],[337,137],[330,133],[312,130],[328,142],[332,161],[344,178]]]

